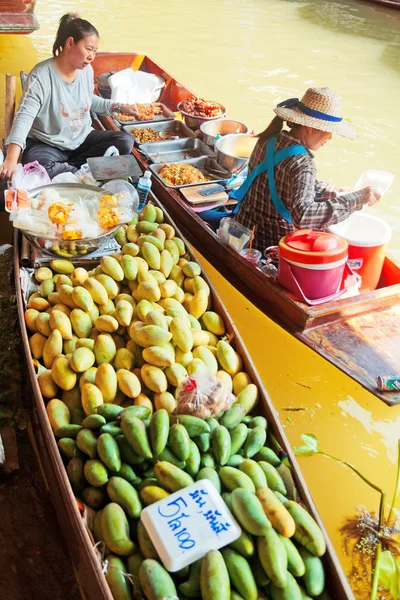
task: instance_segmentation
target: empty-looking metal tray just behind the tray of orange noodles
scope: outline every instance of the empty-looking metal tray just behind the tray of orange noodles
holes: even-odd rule
[[[141,144],[139,150],[154,163],[170,163],[187,160],[188,158],[214,156],[210,148],[198,138],[149,142]]]

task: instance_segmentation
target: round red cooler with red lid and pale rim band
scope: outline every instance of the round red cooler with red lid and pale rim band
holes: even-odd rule
[[[307,304],[339,297],[347,242],[323,231],[300,229],[279,242],[279,283]]]

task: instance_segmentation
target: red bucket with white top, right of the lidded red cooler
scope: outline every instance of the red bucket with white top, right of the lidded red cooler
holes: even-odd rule
[[[392,237],[390,225],[379,217],[357,211],[345,221],[328,227],[328,231],[348,243],[349,265],[361,277],[360,292],[374,290]]]

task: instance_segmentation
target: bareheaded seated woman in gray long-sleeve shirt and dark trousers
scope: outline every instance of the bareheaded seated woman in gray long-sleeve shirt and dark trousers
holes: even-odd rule
[[[120,105],[94,95],[91,62],[99,44],[97,29],[76,14],[60,20],[53,57],[32,69],[6,141],[7,157],[0,179],[11,179],[22,163],[37,160],[51,178],[74,172],[109,146],[120,154],[132,150],[132,138],[121,131],[95,131],[91,112],[118,110],[135,115],[135,105]]]

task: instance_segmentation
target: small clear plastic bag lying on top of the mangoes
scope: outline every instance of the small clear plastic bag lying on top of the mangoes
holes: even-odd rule
[[[222,381],[205,369],[187,377],[177,388],[176,415],[193,415],[201,419],[217,416],[235,401]]]

